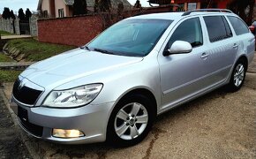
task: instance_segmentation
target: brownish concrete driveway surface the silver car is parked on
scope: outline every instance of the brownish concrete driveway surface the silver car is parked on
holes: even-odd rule
[[[58,145],[22,135],[36,158],[256,158],[256,74],[247,73],[236,93],[220,88],[162,114],[132,148]]]

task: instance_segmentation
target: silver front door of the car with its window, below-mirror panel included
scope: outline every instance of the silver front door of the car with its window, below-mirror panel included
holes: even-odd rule
[[[180,102],[198,95],[210,85],[205,76],[212,72],[208,69],[210,57],[205,50],[203,31],[199,17],[185,19],[177,24],[170,34],[165,49],[175,41],[192,44],[192,52],[158,56],[161,73],[162,110],[169,109]]]

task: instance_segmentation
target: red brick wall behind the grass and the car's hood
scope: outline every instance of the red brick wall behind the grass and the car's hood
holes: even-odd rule
[[[101,18],[94,15],[38,20],[40,42],[82,46],[101,32]]]

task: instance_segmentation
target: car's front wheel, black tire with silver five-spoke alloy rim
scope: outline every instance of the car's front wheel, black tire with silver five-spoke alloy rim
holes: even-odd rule
[[[154,105],[144,95],[129,95],[109,117],[107,142],[115,147],[129,147],[144,140],[154,121]]]

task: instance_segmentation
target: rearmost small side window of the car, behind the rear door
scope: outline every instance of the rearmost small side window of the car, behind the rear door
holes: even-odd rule
[[[249,33],[248,27],[241,19],[232,16],[229,16],[228,19],[230,20],[230,23],[233,26],[237,35]]]

